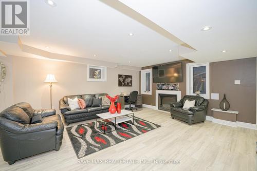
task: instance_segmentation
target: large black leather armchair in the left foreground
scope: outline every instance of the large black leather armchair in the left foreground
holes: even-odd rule
[[[31,124],[36,115],[41,115],[42,123]],[[1,151],[9,164],[45,151],[58,151],[62,139],[63,123],[54,109],[34,110],[22,102],[0,113]]]

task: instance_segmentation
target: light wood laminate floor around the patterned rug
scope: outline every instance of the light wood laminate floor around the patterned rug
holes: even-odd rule
[[[8,165],[1,153],[0,170],[255,170],[256,130],[209,121],[189,126],[171,119],[167,112],[149,108],[135,112],[135,116],[161,127],[81,159],[77,159],[65,129],[59,151],[52,150],[22,159],[13,165]],[[83,122],[69,126],[80,123]],[[164,159],[179,160],[180,164],[79,163],[93,159]]]

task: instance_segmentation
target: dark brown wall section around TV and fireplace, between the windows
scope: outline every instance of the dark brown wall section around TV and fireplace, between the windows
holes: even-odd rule
[[[176,61],[176,62],[178,62],[178,61]],[[191,63],[192,61],[182,60],[181,62],[182,62],[183,82],[179,83],[179,90],[181,91],[181,97],[183,97],[186,95],[186,64]],[[172,62],[172,63],[175,63],[175,62]],[[164,63],[164,64],[171,64],[171,62]],[[157,65],[164,65],[164,64],[157,64]],[[156,65],[142,67],[142,69],[150,69],[153,66],[156,66]],[[153,83],[153,80],[152,80],[152,95],[142,94],[143,104],[155,106],[155,90],[156,89],[157,89],[157,83]]]

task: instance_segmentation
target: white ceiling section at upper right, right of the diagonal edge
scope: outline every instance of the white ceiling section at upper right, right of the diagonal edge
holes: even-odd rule
[[[195,62],[226,61],[257,54],[256,0],[120,0],[197,51]],[[200,31],[211,26],[209,31]],[[221,53],[222,50],[228,50]]]

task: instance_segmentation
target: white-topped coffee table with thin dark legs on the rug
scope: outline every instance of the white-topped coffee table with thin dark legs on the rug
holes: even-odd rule
[[[131,117],[128,117],[128,115],[131,115],[132,114],[132,118]],[[114,130],[111,130],[111,131],[108,131],[108,132],[105,132],[105,127],[108,125],[108,121],[113,123],[114,126],[115,126],[115,130],[117,130],[117,127],[116,127],[116,124],[119,124],[119,123],[122,123],[122,122],[126,122],[126,121],[131,121],[132,120],[132,124],[128,124],[128,126],[131,126],[131,125],[134,125],[134,112],[133,111],[129,111],[129,110],[121,110],[121,113],[114,113],[114,114],[111,114],[109,112],[105,112],[105,113],[100,113],[100,114],[97,114],[96,115],[97,118],[96,118],[96,124],[97,123],[97,120],[98,118],[101,118],[103,119],[103,125],[102,126],[99,126],[97,125],[97,128],[99,130],[101,130],[101,132],[103,132],[103,134],[106,134],[106,133],[109,133],[109,132],[112,132]],[[103,130],[101,129],[103,127]]]

